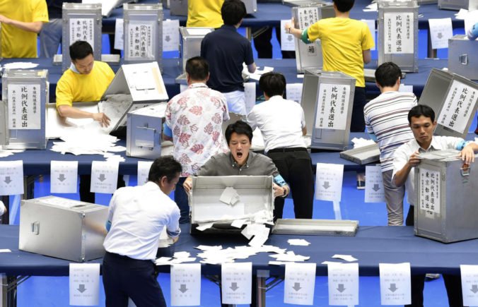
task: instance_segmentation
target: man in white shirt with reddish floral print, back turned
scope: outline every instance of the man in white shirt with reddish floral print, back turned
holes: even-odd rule
[[[190,221],[190,207],[182,183],[209,157],[228,151],[222,123],[229,119],[226,98],[206,85],[209,79],[207,61],[200,56],[187,60],[186,74],[189,86],[168,102],[163,128],[163,139],[173,141],[173,156],[182,165],[174,193],[182,224]]]

